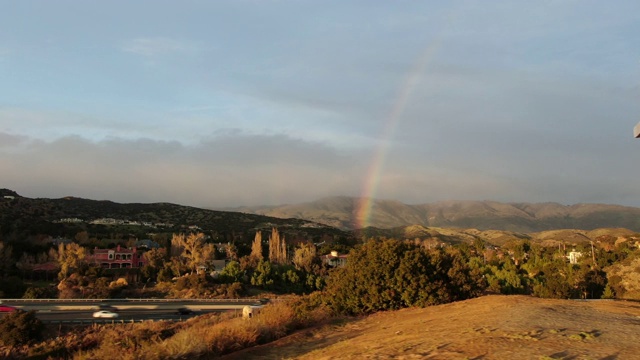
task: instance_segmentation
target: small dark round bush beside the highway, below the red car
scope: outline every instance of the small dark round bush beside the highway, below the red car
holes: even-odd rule
[[[28,344],[39,340],[43,329],[35,311],[16,310],[0,321],[0,341],[7,346]]]

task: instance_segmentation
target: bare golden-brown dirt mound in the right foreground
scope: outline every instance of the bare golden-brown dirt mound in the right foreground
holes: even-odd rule
[[[304,330],[223,359],[640,359],[640,303],[491,295]]]

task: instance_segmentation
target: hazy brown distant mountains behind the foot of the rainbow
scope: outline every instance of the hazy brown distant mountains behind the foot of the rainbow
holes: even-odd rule
[[[314,202],[273,207],[235,209],[280,218],[300,218],[341,229],[353,229],[359,198],[330,197]],[[626,228],[640,231],[640,208],[605,204],[500,203],[495,201],[442,201],[407,205],[375,200],[370,225],[395,228],[409,225],[475,228],[529,233],[554,229]]]

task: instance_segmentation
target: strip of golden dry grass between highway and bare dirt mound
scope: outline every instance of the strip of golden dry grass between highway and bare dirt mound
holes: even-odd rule
[[[264,344],[328,318],[302,298],[265,306],[252,319],[208,314],[182,323],[94,325],[30,348],[4,349],[12,358],[76,360],[211,358]],[[2,351],[3,349],[0,349]]]

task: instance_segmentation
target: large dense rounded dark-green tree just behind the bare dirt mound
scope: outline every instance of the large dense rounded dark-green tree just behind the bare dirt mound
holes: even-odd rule
[[[325,302],[348,314],[427,306],[480,295],[482,275],[458,252],[398,240],[368,241],[327,279]]]

